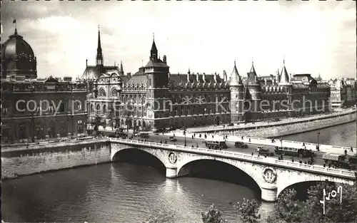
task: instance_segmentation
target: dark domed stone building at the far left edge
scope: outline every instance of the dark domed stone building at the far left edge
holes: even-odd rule
[[[17,33],[1,44],[1,143],[86,133],[87,83],[37,78],[36,56]]]

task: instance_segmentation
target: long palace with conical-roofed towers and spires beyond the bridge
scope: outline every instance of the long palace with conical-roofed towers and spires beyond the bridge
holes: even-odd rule
[[[96,58],[103,58],[100,33]],[[253,63],[247,75],[241,76],[236,62],[229,80],[226,71],[223,78],[189,70],[174,74],[166,56],[162,60],[158,56],[153,41],[149,62],[134,75],[125,76],[122,68],[96,71],[105,72],[96,73],[94,92],[88,96],[89,118],[99,116],[114,128],[155,130],[258,122],[329,110],[328,83],[318,83],[310,74],[289,76],[285,62],[276,76],[258,76]],[[88,73],[87,66],[83,78]]]

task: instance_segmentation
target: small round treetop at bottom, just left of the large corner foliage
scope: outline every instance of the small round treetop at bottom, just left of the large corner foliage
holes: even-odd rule
[[[242,222],[256,223],[261,218],[261,214],[258,214],[259,204],[255,199],[243,198],[243,202],[237,202],[235,207]]]

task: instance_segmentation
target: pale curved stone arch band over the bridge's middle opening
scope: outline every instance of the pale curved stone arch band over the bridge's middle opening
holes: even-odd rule
[[[226,159],[223,157],[211,157],[211,156],[204,156],[204,157],[190,157],[188,159],[185,159],[185,162],[179,162],[177,165],[177,176],[183,176],[187,174],[186,170],[184,170],[184,167],[187,167],[190,164],[193,164],[194,162],[202,161],[202,160],[214,160],[216,162],[221,162],[226,165],[230,165],[231,167],[235,167],[236,170],[240,170],[241,172],[245,173],[246,176],[251,178],[253,182],[255,182],[256,186],[261,190],[261,187],[263,186],[264,182],[261,177],[261,172],[254,170],[251,165],[247,165],[246,162],[242,162],[239,160],[231,160],[231,159]],[[250,167],[250,168],[249,168]]]

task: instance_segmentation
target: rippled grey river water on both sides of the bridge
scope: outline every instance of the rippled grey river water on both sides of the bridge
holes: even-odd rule
[[[321,144],[356,147],[356,123],[319,130]],[[286,140],[317,142],[317,131]],[[48,172],[2,182],[5,222],[139,223],[201,222],[200,212],[214,203],[228,222],[238,222],[232,203],[259,199],[251,187],[195,177],[166,179],[154,167],[107,163]],[[261,202],[263,218],[271,203]],[[262,221],[263,222],[263,221]]]

